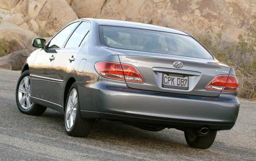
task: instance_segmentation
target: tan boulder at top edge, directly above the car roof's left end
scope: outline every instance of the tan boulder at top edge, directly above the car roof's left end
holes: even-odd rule
[[[71,7],[79,18],[94,18],[99,14],[105,2],[105,0],[74,0]]]

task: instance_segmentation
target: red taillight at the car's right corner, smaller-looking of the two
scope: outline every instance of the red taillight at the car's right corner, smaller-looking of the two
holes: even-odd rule
[[[205,88],[217,91],[238,91],[238,80],[236,76],[217,76]]]

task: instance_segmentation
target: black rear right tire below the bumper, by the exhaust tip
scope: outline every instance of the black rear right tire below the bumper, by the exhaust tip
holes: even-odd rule
[[[205,135],[191,135],[188,132],[184,132],[186,142],[191,148],[199,148],[199,149],[207,149],[212,143],[214,143],[217,131],[209,131],[208,134]]]

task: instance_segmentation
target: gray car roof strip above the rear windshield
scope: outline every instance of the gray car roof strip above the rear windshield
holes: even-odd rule
[[[179,30],[174,30],[174,29],[150,25],[150,24],[142,24],[142,23],[138,23],[138,22],[112,20],[112,19],[96,19],[96,18],[81,18],[79,20],[89,20],[90,22],[97,23],[98,25],[155,30],[155,31],[163,31],[163,32],[169,32],[169,33],[190,36],[187,33],[179,31]]]

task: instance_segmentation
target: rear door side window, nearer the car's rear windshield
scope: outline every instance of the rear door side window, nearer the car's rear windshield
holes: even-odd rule
[[[82,22],[77,29],[70,36],[65,48],[77,48],[81,42],[86,39],[86,35],[90,30],[90,24],[88,22]]]

